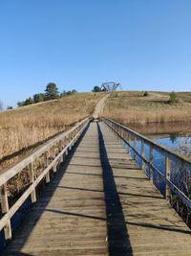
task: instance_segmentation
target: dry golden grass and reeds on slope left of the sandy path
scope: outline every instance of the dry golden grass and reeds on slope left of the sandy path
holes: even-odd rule
[[[1,168],[4,167],[2,159],[10,159],[10,164],[19,152],[27,151],[92,114],[101,96],[102,93],[76,93],[45,104],[0,112]]]

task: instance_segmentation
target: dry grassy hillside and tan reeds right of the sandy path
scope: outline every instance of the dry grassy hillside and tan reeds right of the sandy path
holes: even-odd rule
[[[191,122],[191,92],[178,93],[179,103],[170,105],[169,93],[115,92],[108,99],[104,115],[122,124]]]

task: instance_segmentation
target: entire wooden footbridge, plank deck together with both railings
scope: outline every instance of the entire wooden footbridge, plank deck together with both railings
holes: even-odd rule
[[[154,151],[165,158],[164,173]],[[46,163],[41,173],[37,159]],[[131,129],[83,120],[0,174],[3,255],[191,255],[191,231],[167,200],[173,194],[191,207],[171,179],[174,161],[190,170],[187,159]],[[23,170],[30,183],[11,203],[7,188]]]

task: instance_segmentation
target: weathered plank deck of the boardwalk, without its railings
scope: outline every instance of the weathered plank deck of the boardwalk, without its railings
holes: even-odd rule
[[[5,255],[191,255],[190,235],[111,130],[91,123]]]

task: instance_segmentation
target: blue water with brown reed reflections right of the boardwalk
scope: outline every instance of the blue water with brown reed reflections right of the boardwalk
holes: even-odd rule
[[[166,124],[166,125],[147,125],[147,126],[131,126],[130,128],[137,130],[138,133],[145,135],[165,146],[166,148],[179,151],[181,154],[191,159],[191,124]],[[132,142],[133,146],[133,142]],[[137,151],[140,153],[141,145],[140,141],[137,144]],[[149,147],[145,146],[145,157],[149,159]],[[159,151],[154,151],[154,166],[160,173],[165,175],[165,157]],[[132,151],[132,156],[134,153]],[[138,164],[141,163],[141,159],[137,159]],[[145,168],[145,173],[148,175],[149,169]],[[191,193],[191,170],[185,169],[179,162],[171,163],[171,181],[177,185],[180,190],[189,196]],[[153,172],[153,182],[159,189],[162,195],[165,195],[165,180],[161,176]]]

